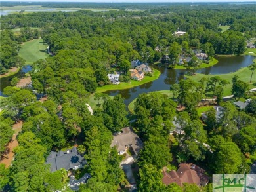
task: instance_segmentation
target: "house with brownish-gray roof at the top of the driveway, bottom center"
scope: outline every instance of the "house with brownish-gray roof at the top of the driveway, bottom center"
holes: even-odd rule
[[[117,147],[119,155],[123,155],[126,149],[133,149],[134,153],[137,155],[142,149],[143,143],[139,136],[131,130],[129,127],[122,129],[122,132],[114,135],[110,147]]]

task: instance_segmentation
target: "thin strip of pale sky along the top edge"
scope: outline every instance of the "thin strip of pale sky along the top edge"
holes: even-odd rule
[[[3,1],[17,1],[17,0],[3,0]],[[20,0],[17,2],[96,2],[96,3],[122,3],[122,2],[129,2],[129,3],[160,3],[160,2],[255,2],[256,0]]]

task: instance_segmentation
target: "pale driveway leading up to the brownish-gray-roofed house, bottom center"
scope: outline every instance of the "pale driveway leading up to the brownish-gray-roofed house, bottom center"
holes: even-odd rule
[[[124,159],[121,162],[121,167],[123,168],[123,171],[127,176],[128,182],[131,184],[129,191],[136,191],[137,189],[136,181],[135,181],[135,178],[133,177],[133,171],[131,170],[131,164],[133,164],[133,162],[134,162],[134,159],[131,156],[128,156],[126,159]]]

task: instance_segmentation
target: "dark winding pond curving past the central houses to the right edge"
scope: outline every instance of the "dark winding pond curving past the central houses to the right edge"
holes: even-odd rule
[[[211,67],[199,69],[197,73],[203,74],[225,74],[237,71],[242,67],[247,67],[253,64],[253,56],[232,56],[232,57],[215,57],[219,62]],[[154,66],[161,72],[161,75],[155,81],[145,83],[144,85],[136,86],[125,90],[109,90],[104,92],[110,96],[121,94],[125,99],[125,104],[128,105],[143,92],[152,92],[157,90],[169,90],[170,85],[178,83],[181,79],[185,79],[184,75],[188,72],[186,69],[167,69],[166,67]]]

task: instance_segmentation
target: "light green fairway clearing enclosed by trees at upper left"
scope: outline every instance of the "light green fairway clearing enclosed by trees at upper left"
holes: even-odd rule
[[[26,60],[26,64],[33,64],[33,62],[49,56],[49,54],[47,54],[47,45],[43,44],[43,39],[34,39],[25,42],[22,44],[19,56]]]

